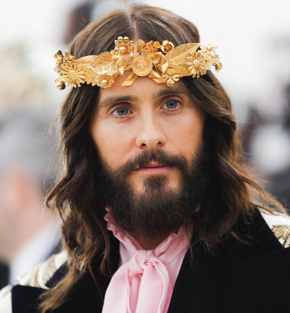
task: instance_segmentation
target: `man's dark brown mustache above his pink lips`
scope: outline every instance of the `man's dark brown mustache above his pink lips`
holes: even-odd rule
[[[176,155],[165,149],[157,149],[154,151],[144,150],[121,164],[116,169],[117,175],[126,175],[136,168],[143,168],[150,164],[152,161],[162,163],[164,165],[175,165],[181,168],[182,171],[188,171],[189,165],[185,156]]]

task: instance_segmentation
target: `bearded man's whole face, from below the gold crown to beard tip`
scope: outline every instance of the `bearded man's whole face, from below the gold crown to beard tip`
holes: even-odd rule
[[[204,186],[205,115],[184,83],[147,76],[101,89],[90,135],[101,157],[106,201],[123,230],[158,236],[187,223]]]

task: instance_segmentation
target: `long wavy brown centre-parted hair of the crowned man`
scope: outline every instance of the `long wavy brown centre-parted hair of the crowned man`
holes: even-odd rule
[[[168,39],[175,46],[199,42],[198,30],[188,20],[165,9],[133,4],[89,23],[67,50],[76,58],[97,55],[114,49],[118,36],[145,42]],[[244,241],[233,229],[240,215],[251,218],[255,206],[284,213],[286,210],[262,189],[244,165],[232,103],[219,81],[210,70],[199,78],[186,76],[182,80],[206,115],[204,141],[210,155],[211,185],[201,203],[205,209],[195,214],[194,243],[202,241],[210,246],[222,240],[222,236]],[[68,273],[42,295],[42,313],[68,299],[85,272],[93,275],[91,260],[97,252],[102,255],[99,271],[110,272],[110,239],[103,218],[105,199],[94,174],[99,171],[99,156],[88,131],[98,90],[99,87],[86,84],[72,88],[61,107],[58,125],[63,168],[45,204],[63,219]]]

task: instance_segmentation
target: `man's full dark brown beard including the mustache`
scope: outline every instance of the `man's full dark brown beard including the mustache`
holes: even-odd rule
[[[142,191],[134,191],[126,177],[134,168],[152,161],[179,167],[182,173],[179,186],[171,187],[168,175],[144,175]],[[102,161],[101,191],[125,233],[153,239],[192,223],[206,189],[206,165],[203,148],[190,161],[162,149],[144,150],[116,170]]]

